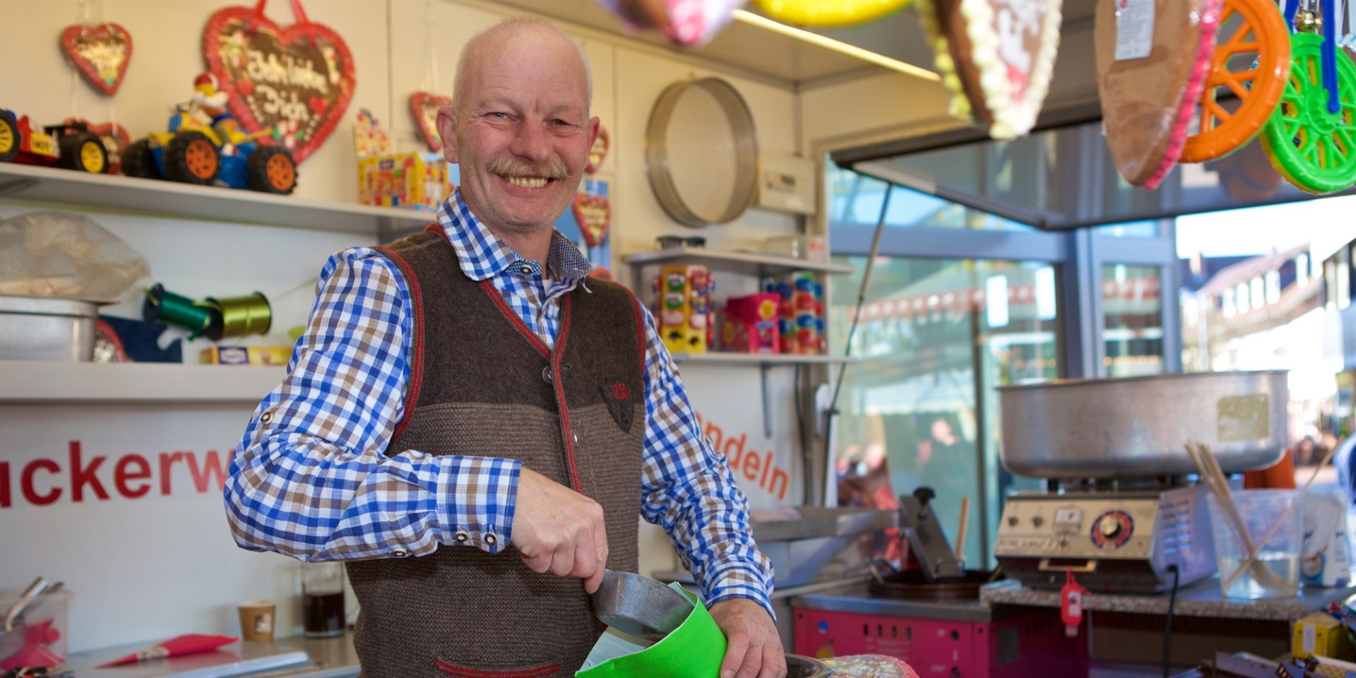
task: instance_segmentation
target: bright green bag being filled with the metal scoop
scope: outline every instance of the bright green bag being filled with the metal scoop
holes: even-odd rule
[[[716,678],[725,635],[697,595],[669,584],[693,603],[692,614],[663,640],[650,644],[609,628],[594,643],[575,678]],[[648,645],[648,647],[647,647]]]

